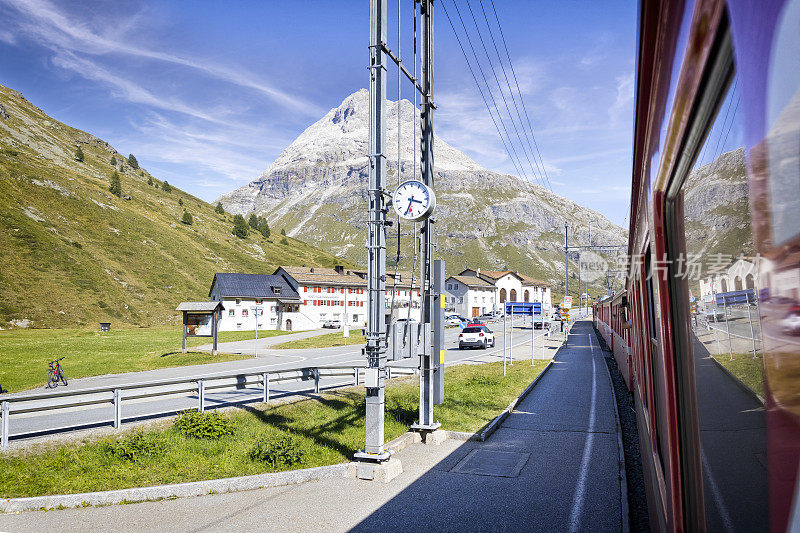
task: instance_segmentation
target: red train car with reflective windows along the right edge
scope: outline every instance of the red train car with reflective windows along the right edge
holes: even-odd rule
[[[800,0],[640,4],[630,264],[595,323],[654,530],[800,528],[799,24]],[[743,279],[723,342],[692,306]]]

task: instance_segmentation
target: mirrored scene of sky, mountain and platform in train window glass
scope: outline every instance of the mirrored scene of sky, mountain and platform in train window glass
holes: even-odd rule
[[[734,76],[682,186],[700,463],[709,531],[768,526],[758,257]]]

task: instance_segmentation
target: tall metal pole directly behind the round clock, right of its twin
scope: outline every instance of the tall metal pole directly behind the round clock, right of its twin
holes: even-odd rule
[[[433,175],[433,2],[420,2],[421,22],[421,86],[423,90],[420,103],[420,172],[422,182],[434,188]],[[434,220],[428,218],[422,223],[422,245],[420,254],[420,281],[422,288],[422,353],[420,354],[419,378],[419,421],[414,429],[434,430],[438,424],[433,421],[433,287],[435,285],[433,251],[436,243]],[[438,301],[438,299],[437,299]],[[437,354],[438,355],[438,354]]]

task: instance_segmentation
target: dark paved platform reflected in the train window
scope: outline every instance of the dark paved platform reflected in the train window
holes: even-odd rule
[[[708,531],[766,531],[764,406],[744,392],[695,340],[703,492]]]

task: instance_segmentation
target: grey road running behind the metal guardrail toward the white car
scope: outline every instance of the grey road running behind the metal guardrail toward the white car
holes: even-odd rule
[[[521,322],[519,322],[521,324]],[[493,326],[496,327],[496,326]],[[541,357],[542,332],[537,330],[535,333],[535,355]],[[503,357],[503,343],[505,337],[502,332],[502,324],[495,329],[497,336],[494,348],[487,350],[459,350],[458,349],[458,330],[447,330],[445,334],[446,346],[445,364],[456,364],[464,361],[501,361]],[[272,340],[269,338],[265,340]],[[530,359],[531,357],[531,330],[530,328],[515,328],[513,334],[514,351],[513,357],[519,359]],[[554,336],[550,347],[545,351],[545,357],[552,357],[555,352],[559,336]],[[511,340],[509,339],[509,343]],[[126,374],[115,374],[107,376],[95,376],[92,378],[76,379],[70,381],[69,387],[62,387],[54,392],[63,390],[80,390],[91,387],[111,387],[135,382],[157,381],[161,379],[199,377],[203,375],[213,375],[230,372],[278,372],[289,368],[312,367],[312,366],[363,366],[364,357],[361,354],[362,346],[347,346],[324,349],[305,349],[305,350],[283,350],[264,347],[259,349],[259,357],[240,361],[227,361],[222,363],[211,363],[205,365],[194,365],[188,367],[177,367],[146,372],[131,372]],[[391,363],[391,366],[416,368],[419,360],[405,359]],[[338,387],[351,385],[352,377],[330,377],[320,380],[321,388]],[[260,401],[263,396],[261,387],[257,384],[243,384],[241,381],[231,379],[230,388],[224,390],[209,390],[205,395],[207,408],[230,405],[232,403]],[[145,420],[160,416],[174,414],[177,411],[192,409],[198,406],[198,396],[195,390],[185,390],[187,386],[174,385],[149,389],[150,392],[175,392],[169,397],[129,399],[123,401],[122,416],[124,422]],[[189,387],[192,387],[191,385]],[[308,394],[313,391],[313,381],[293,381],[272,383],[270,387],[271,398],[283,398],[298,394]],[[18,394],[9,395],[10,397],[24,397],[30,394],[41,393],[42,389],[26,391]],[[123,392],[123,399],[126,392]],[[109,426],[114,418],[113,405],[110,403],[111,393],[98,393],[88,398],[103,399],[109,403],[99,406],[82,406],[57,411],[44,411],[25,414],[13,414],[10,417],[10,437],[11,445],[22,443],[30,438],[47,437],[53,433],[63,433],[75,429],[85,429],[93,427]],[[41,400],[30,405],[52,405],[52,400]],[[56,431],[58,430],[58,431]]]

